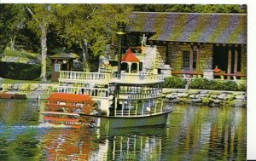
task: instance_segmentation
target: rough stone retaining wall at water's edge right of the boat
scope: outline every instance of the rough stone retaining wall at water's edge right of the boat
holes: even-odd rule
[[[166,100],[172,103],[190,103],[208,106],[246,106],[246,92],[201,90],[201,89],[163,89]]]

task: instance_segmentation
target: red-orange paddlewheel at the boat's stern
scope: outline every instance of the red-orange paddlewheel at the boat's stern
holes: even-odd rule
[[[91,122],[92,119],[79,119],[70,113],[81,112],[84,114],[90,114],[93,110],[97,109],[97,104],[92,100],[90,95],[78,95],[78,94],[65,94],[54,93],[48,98],[49,103],[45,105],[49,107],[49,112],[44,116],[44,120],[53,124],[84,124]],[[50,112],[59,112],[58,114],[51,114]]]

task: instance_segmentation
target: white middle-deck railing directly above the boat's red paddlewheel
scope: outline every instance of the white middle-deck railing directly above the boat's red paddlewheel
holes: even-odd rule
[[[108,98],[108,89],[61,86],[60,93],[91,95],[92,97]]]

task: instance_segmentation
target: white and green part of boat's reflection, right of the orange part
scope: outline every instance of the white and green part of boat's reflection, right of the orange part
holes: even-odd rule
[[[101,140],[106,145],[108,160],[159,160],[163,137],[166,137],[165,127],[151,126],[111,130],[101,135]],[[96,154],[102,153],[104,144]]]

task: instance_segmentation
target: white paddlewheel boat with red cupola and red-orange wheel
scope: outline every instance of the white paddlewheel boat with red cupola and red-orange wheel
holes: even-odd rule
[[[157,69],[140,71],[131,49],[121,60],[120,74],[61,71],[44,119],[108,128],[166,124],[172,110],[163,101],[163,75]]]

